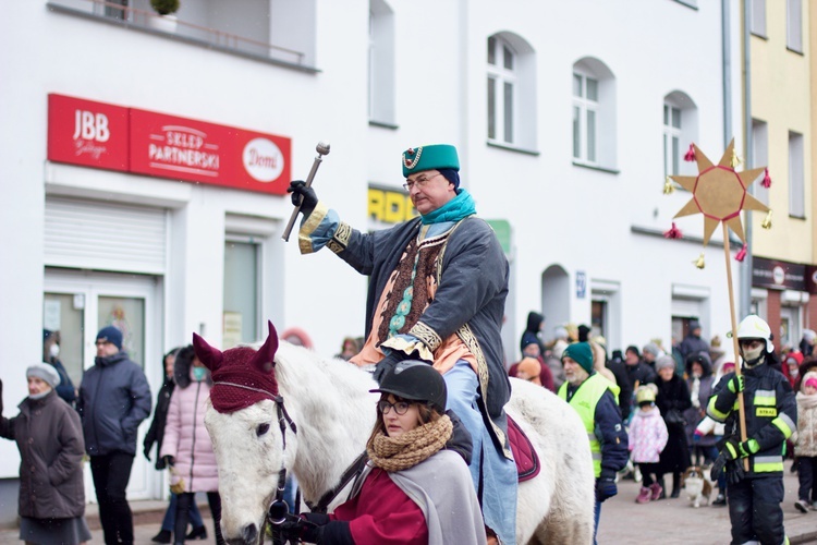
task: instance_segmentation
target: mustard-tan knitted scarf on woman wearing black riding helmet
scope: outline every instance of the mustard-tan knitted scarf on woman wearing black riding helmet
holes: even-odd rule
[[[399,437],[379,433],[366,445],[371,463],[383,471],[402,471],[435,455],[451,438],[454,426],[448,415],[415,427]]]

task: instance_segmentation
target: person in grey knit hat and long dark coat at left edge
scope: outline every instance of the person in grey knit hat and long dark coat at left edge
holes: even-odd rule
[[[20,538],[44,545],[87,542],[80,415],[54,391],[60,375],[51,365],[35,363],[25,374],[28,397],[20,414],[0,417],[0,437],[16,441],[20,450]]]

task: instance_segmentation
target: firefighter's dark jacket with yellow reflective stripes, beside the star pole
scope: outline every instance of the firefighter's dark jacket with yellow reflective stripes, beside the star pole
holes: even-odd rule
[[[725,422],[724,437],[741,438],[737,395],[729,389],[734,373],[727,373],[709,398],[707,414]],[[797,428],[797,402],[789,380],[782,373],[763,363],[743,371],[743,403],[746,413],[746,438],[760,447],[749,456],[747,476],[783,474],[785,440]]]

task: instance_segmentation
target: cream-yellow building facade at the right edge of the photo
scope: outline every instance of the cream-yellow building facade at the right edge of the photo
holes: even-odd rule
[[[752,307],[765,317],[778,349],[797,348],[803,329],[817,327],[812,100],[814,10],[809,2],[746,3],[751,149],[754,167],[768,166],[768,187],[755,195],[773,211],[752,217]]]

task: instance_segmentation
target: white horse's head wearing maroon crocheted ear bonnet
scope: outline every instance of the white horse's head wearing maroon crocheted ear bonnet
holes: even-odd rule
[[[193,334],[193,348],[214,380],[205,425],[218,462],[223,536],[236,545],[261,543],[264,517],[284,463],[275,372],[278,335],[269,323],[269,337],[258,350],[221,352]],[[291,465],[295,434],[285,439]]]

